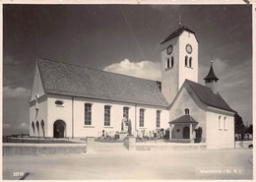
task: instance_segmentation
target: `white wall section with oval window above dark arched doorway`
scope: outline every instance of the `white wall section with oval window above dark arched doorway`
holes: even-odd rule
[[[64,136],[72,137],[72,97],[50,94],[47,100],[47,137],[53,137],[53,125],[57,120],[62,120],[66,124]],[[63,101],[63,105],[55,104],[56,100]]]

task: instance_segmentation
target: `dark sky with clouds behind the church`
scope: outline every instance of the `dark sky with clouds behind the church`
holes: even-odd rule
[[[29,133],[36,58],[160,81],[160,42],[181,24],[219,92],[252,122],[251,5],[3,5],[3,134]]]

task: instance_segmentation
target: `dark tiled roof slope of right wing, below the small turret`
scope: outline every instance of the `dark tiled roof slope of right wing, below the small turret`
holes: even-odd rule
[[[197,94],[199,99],[207,104],[208,106],[217,107],[227,111],[235,112],[229,105],[224,101],[224,98],[219,94],[214,93],[210,88],[202,86],[198,83],[185,80],[185,82],[191,87],[191,89]]]

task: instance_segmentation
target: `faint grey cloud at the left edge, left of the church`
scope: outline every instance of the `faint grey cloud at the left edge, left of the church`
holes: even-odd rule
[[[20,96],[27,96],[30,94],[30,90],[27,90],[25,88],[16,88],[11,89],[9,86],[3,88],[3,95],[4,97],[8,98],[14,98],[14,97],[20,97]]]

